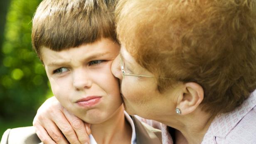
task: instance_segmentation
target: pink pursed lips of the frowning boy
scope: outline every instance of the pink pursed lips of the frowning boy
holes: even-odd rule
[[[82,107],[92,107],[97,103],[99,103],[100,100],[101,100],[100,96],[89,96],[89,97],[77,100],[76,103]]]

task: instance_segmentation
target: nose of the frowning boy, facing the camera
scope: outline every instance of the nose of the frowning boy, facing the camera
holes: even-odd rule
[[[73,85],[76,90],[84,90],[85,88],[91,88],[92,81],[86,71],[78,70],[73,74]]]

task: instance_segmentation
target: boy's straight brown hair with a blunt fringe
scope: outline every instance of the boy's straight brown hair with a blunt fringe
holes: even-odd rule
[[[43,0],[32,22],[32,45],[62,51],[101,38],[116,39],[116,0]]]

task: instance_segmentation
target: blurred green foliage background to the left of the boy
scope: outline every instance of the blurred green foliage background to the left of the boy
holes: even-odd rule
[[[31,44],[32,17],[41,0],[0,1],[0,137],[7,128],[32,125],[52,95]]]

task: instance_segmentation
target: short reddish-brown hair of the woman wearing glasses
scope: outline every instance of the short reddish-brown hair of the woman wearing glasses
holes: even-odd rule
[[[206,112],[234,110],[256,89],[255,0],[121,0],[116,20],[141,66],[203,87]],[[158,90],[173,83],[159,78]]]

